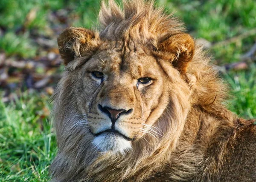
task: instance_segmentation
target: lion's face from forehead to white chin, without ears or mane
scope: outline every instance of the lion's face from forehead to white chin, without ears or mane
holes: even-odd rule
[[[79,113],[99,151],[131,149],[167,104],[161,97],[167,97],[168,82],[157,60],[139,47],[122,49],[122,44],[99,47],[77,73],[81,84],[74,84]]]

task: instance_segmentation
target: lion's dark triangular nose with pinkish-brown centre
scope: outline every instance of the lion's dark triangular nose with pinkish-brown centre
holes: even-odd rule
[[[132,111],[132,109],[129,109],[128,111],[126,111],[125,109],[113,109],[109,107],[102,107],[102,105],[99,105],[99,109],[103,113],[107,114],[108,117],[110,117],[112,126],[115,125],[116,120],[119,118],[121,114],[129,114]]]

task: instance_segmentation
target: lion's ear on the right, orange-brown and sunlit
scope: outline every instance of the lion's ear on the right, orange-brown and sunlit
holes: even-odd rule
[[[194,56],[195,43],[189,34],[179,33],[160,41],[157,48],[175,68],[185,73]]]

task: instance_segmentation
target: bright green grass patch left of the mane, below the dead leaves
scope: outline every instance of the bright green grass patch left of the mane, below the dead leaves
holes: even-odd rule
[[[46,112],[48,97],[23,94],[0,102],[0,181],[48,181],[56,142]]]

